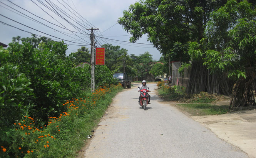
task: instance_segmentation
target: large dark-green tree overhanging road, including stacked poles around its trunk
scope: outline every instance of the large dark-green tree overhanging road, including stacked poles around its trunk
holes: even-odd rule
[[[171,61],[188,61],[188,42],[199,42],[204,37],[206,23],[212,11],[223,6],[226,0],[145,0],[134,3],[125,10],[118,23],[124,30],[131,33],[131,42],[136,42],[142,35],[147,34],[149,41],[168,55]],[[202,65],[202,58],[192,59],[190,81],[187,92],[229,94],[227,84],[212,84],[221,79],[222,74],[210,74]]]

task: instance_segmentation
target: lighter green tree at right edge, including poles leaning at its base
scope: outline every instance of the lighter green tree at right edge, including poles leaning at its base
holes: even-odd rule
[[[205,65],[236,79],[231,108],[256,106],[256,2],[252,2],[229,0],[213,12],[207,39],[198,44],[204,47]]]

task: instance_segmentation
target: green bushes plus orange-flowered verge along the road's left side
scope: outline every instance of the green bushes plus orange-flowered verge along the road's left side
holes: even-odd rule
[[[75,157],[122,86],[96,66],[91,93],[64,42],[28,39],[0,48],[0,158]]]

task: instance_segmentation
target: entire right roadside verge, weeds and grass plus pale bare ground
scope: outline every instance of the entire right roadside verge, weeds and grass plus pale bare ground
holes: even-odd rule
[[[201,92],[188,97],[175,91],[176,87],[164,87],[161,82],[157,86],[157,93],[164,101],[243,150],[249,158],[256,158],[256,109],[231,111],[228,96]]]

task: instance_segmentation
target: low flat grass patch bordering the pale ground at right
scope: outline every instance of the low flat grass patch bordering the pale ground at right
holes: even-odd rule
[[[219,115],[219,114],[226,114],[229,112],[228,105],[212,105],[206,103],[199,103],[199,104],[177,104],[177,106],[189,113],[192,116],[202,116],[202,115]]]

